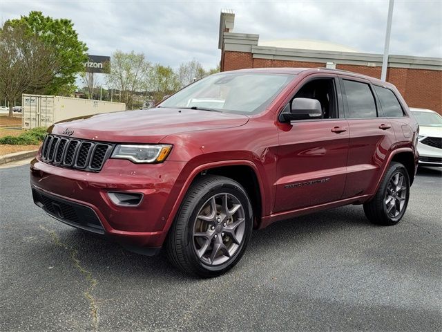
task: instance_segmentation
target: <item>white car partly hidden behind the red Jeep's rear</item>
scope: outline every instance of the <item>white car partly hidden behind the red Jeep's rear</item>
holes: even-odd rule
[[[430,109],[412,109],[419,123],[419,165],[442,166],[442,116]]]

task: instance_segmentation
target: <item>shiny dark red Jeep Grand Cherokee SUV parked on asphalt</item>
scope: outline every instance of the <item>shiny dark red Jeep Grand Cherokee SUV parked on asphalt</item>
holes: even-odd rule
[[[182,270],[232,268],[253,228],[347,204],[394,225],[418,125],[392,84],[325,68],[218,73],[157,107],[59,122],[30,165],[55,219]]]

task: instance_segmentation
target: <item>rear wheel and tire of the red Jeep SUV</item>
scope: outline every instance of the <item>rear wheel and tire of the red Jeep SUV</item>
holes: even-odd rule
[[[365,216],[377,225],[396,225],[407,210],[410,177],[401,164],[392,162],[372,200],[364,203]]]

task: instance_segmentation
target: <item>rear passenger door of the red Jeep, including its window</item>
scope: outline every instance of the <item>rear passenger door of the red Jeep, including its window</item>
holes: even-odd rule
[[[350,134],[345,199],[370,194],[396,137],[369,81],[344,76],[340,87]]]

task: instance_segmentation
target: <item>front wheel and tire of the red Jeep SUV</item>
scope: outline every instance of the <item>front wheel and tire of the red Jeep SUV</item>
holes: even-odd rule
[[[169,230],[166,252],[173,265],[199,277],[233,268],[251,236],[247,192],[224,176],[204,175],[189,188]]]

